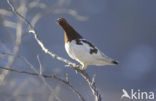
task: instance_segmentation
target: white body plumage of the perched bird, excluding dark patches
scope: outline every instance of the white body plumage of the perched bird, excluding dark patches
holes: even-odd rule
[[[78,61],[83,66],[82,69],[86,69],[88,65],[115,65],[113,60],[104,55],[97,47],[97,53],[90,54],[92,47],[81,40],[80,42],[82,45],[77,44],[75,40],[67,42],[65,43],[65,49],[72,59]]]

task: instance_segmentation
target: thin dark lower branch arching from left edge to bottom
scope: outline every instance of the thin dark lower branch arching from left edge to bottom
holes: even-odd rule
[[[85,101],[83,96],[76,89],[73,88],[73,86],[69,83],[69,81],[63,80],[63,79],[57,77],[56,75],[46,75],[46,74],[32,73],[32,72],[27,72],[27,71],[19,71],[16,69],[6,68],[6,67],[1,67],[1,66],[0,66],[0,69],[12,71],[12,72],[16,72],[16,73],[21,73],[21,74],[27,74],[27,75],[32,75],[32,76],[42,76],[44,78],[55,79],[55,80],[65,84],[65,85],[67,85],[69,88],[71,88],[72,91],[75,94],[77,94],[77,96],[80,98],[81,101]]]

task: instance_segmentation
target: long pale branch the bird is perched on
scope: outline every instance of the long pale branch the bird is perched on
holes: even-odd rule
[[[101,96],[100,94],[98,93],[97,89],[96,89],[96,86],[95,86],[95,83],[92,83],[89,75],[86,73],[86,71],[83,71],[83,70],[80,70],[81,69],[81,66],[80,65],[77,65],[76,63],[73,63],[65,58],[62,58],[56,54],[54,54],[53,52],[50,52],[45,46],[44,44],[39,40],[38,36],[37,36],[37,32],[35,31],[34,27],[31,25],[31,23],[25,18],[23,17],[20,13],[18,13],[16,11],[16,9],[12,6],[12,4],[9,2],[9,0],[7,0],[9,6],[11,7],[12,9],[12,12],[14,12],[17,16],[21,17],[23,19],[23,21],[29,26],[29,32],[31,32],[34,37],[35,37],[35,40],[37,41],[38,45],[41,47],[41,49],[43,50],[43,52],[45,52],[46,54],[50,55],[52,58],[55,58],[61,62],[64,62],[66,64],[68,64],[68,66],[72,67],[73,69],[77,70],[81,76],[86,80],[86,82],[88,83],[94,97],[95,97],[95,101],[101,101]]]

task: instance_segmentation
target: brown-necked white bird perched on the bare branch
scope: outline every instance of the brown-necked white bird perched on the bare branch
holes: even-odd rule
[[[57,19],[58,25],[64,30],[65,50],[70,58],[81,64],[81,70],[89,65],[117,65],[118,62],[106,56],[91,42],[83,38],[65,18]]]

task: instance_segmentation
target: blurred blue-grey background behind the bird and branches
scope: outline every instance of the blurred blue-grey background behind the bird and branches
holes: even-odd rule
[[[63,30],[56,24],[64,17],[118,66],[89,66],[102,101],[123,101],[122,89],[156,93],[156,1],[155,0],[10,0],[35,27],[45,47],[71,60],[64,49]],[[94,97],[83,78],[65,64],[45,54],[28,33],[28,26],[6,0],[0,1],[0,66],[33,72],[25,57],[44,74],[65,74],[87,101]],[[38,57],[38,58],[37,58]],[[73,60],[71,60],[73,61]],[[73,61],[75,62],[75,61]],[[77,62],[76,62],[77,63]],[[48,85],[48,86],[47,86]],[[0,70],[0,101],[79,101],[66,85],[54,80]],[[128,101],[128,99],[126,99]],[[134,100],[133,100],[134,101]]]

